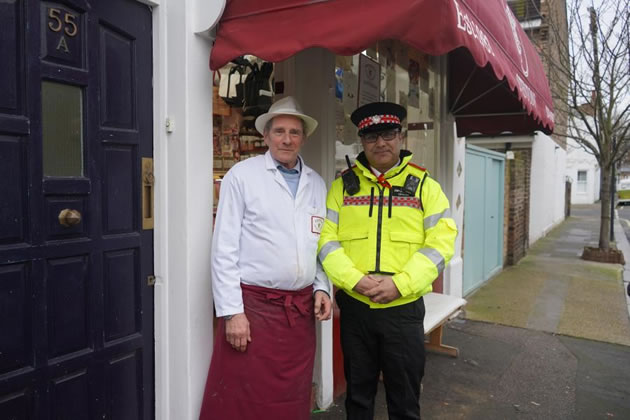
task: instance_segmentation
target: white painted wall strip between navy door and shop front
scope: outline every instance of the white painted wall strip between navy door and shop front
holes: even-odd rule
[[[212,351],[211,41],[196,32],[225,2],[144,2],[154,17],[155,414],[196,419]]]

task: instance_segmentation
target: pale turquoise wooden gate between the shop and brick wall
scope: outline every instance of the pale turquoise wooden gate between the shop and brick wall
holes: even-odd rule
[[[504,155],[466,146],[464,294],[503,266]]]

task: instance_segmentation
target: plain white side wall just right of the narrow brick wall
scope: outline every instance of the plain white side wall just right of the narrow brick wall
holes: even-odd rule
[[[567,153],[551,137],[537,132],[532,142],[529,196],[529,244],[564,220]]]

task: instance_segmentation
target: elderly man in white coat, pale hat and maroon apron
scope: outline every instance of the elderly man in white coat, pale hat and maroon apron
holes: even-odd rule
[[[269,151],[221,183],[212,241],[220,317],[201,419],[309,419],[315,319],[331,314],[317,260],[323,179],[299,156],[317,121],[292,97],[256,119]]]

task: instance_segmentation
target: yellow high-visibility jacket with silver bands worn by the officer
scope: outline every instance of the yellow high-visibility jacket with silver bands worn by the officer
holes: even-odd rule
[[[352,167],[359,192],[349,195],[339,177],[326,200],[318,258],[335,286],[372,308],[403,305],[429,293],[453,256],[457,237],[440,184],[410,163],[409,151],[402,150],[400,158],[379,182],[362,152]],[[402,188],[410,175],[420,180],[415,193]],[[368,273],[391,275],[401,297],[379,304],[354,292]]]

